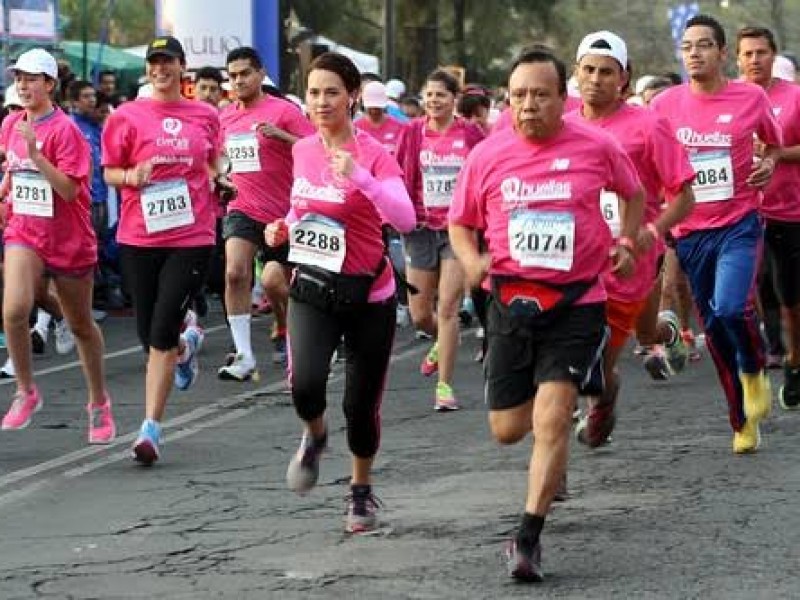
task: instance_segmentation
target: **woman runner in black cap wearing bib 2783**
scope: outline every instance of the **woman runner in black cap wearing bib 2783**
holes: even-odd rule
[[[103,166],[106,182],[121,190],[117,239],[148,355],[145,419],[133,456],[151,465],[160,456],[173,382],[188,389],[198,373],[203,332],[193,323],[180,331],[214,247],[209,174],[219,154],[219,118],[208,104],[181,97],[186,55],[177,39],[156,38],[145,60],[153,95],[126,102],[108,118]]]

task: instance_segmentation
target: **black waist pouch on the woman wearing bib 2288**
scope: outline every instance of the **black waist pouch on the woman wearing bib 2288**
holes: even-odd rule
[[[289,296],[324,312],[361,306],[369,300],[375,275],[343,275],[320,267],[298,265]]]

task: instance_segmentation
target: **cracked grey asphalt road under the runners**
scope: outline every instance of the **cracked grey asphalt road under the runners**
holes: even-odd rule
[[[625,357],[614,440],[573,446],[571,497],[542,538],[547,580],[525,586],[507,578],[502,550],[530,443],[490,439],[472,332],[455,384],[464,408],[442,414],[418,373],[427,345],[399,331],[376,462],[381,527],[349,537],[341,365],[332,448],[300,498],[284,480],[300,427],[268,364],[267,325],[254,327],[261,380],[222,382],[229,340],[212,315],[201,377],[173,394],[149,469],[128,456],[144,375],[131,318],[104,323],[111,446],[85,443],[76,357],[37,359],[45,407],[27,430],[0,434],[0,599],[800,597],[800,413],[776,409],[761,451],[734,456],[708,356],[667,383]],[[12,391],[0,383],[2,410]]]

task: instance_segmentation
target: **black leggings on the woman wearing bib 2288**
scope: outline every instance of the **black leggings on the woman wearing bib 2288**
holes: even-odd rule
[[[394,342],[395,309],[390,299],[329,314],[289,299],[289,371],[295,410],[303,421],[325,412],[331,357],[344,336],[347,443],[359,458],[375,456],[380,445],[380,407]]]

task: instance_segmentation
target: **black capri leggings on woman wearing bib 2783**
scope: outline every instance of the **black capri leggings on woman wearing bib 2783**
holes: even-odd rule
[[[123,277],[145,351],[178,347],[183,318],[203,286],[213,248],[121,247]]]

